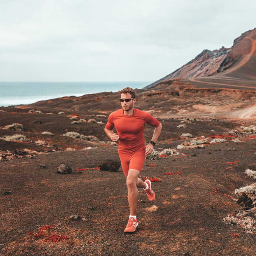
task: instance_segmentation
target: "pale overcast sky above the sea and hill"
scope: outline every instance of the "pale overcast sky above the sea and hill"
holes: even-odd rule
[[[156,81],[256,27],[255,0],[0,0],[0,81]]]

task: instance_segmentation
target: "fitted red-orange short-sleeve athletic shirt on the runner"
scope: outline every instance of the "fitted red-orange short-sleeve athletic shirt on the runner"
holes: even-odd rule
[[[134,109],[132,116],[126,116],[123,109],[118,109],[109,115],[105,128],[112,130],[116,127],[119,135],[119,151],[133,152],[145,150],[144,128],[145,123],[157,127],[160,122],[151,114]]]

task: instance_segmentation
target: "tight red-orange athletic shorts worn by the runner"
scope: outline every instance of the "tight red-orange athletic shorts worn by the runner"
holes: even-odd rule
[[[146,157],[145,151],[137,151],[135,153],[123,153],[119,151],[118,153],[126,177],[130,169],[141,172]]]

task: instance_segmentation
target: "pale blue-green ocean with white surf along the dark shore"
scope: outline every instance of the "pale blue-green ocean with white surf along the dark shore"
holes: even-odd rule
[[[141,89],[151,82],[0,82],[0,107],[31,104],[64,96],[116,92],[126,86]]]

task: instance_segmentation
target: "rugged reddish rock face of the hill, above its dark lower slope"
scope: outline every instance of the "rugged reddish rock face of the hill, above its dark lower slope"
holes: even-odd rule
[[[243,33],[234,40],[231,48],[221,47],[219,50],[203,50],[193,60],[171,74],[146,86],[150,88],[162,81],[177,78],[209,77],[234,67],[245,56],[256,56],[253,49],[256,39],[256,28]]]

